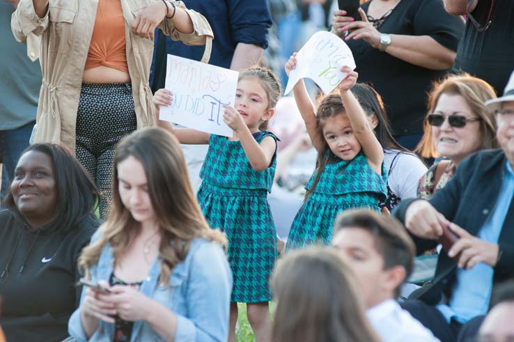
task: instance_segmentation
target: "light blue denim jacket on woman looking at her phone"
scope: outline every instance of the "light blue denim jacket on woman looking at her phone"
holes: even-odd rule
[[[100,229],[91,242],[100,236]],[[221,247],[202,238],[195,238],[185,261],[178,263],[170,275],[169,288],[159,284],[159,259],[150,267],[141,284],[144,295],[168,307],[177,316],[176,342],[226,342],[230,308],[232,274]],[[102,250],[98,265],[91,267],[93,281],[108,281],[114,267],[110,244]],[[86,291],[82,291],[81,303]],[[68,322],[70,336],[78,342],[112,341],[114,324],[102,320],[91,338],[86,339],[80,318],[81,306]],[[164,341],[147,322],[138,320],[132,328],[131,342]]]

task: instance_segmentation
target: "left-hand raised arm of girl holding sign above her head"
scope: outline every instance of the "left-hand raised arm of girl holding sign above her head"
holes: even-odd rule
[[[286,63],[286,74],[289,76],[291,70],[296,68],[296,52],[290,57]],[[307,88],[305,88],[305,82],[300,79],[297,84],[293,87],[293,93],[295,94],[296,105],[298,106],[300,114],[305,121],[307,133],[311,137],[312,144],[318,152],[323,146],[323,137],[318,132],[318,121],[316,121],[316,109],[314,104],[309,97]]]

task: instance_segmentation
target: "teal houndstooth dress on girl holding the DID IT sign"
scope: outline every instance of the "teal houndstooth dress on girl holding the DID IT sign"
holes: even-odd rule
[[[254,134],[258,143],[271,132]],[[228,238],[228,261],[233,273],[231,302],[271,300],[269,278],[277,258],[277,233],[267,203],[276,157],[264,171],[255,171],[240,141],[212,134],[200,171],[198,201],[212,228]]]

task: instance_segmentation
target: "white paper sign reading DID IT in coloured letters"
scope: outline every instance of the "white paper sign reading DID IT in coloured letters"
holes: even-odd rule
[[[165,87],[173,93],[173,104],[161,107],[159,119],[232,137],[223,105],[234,105],[237,77],[237,71],[169,54]]]

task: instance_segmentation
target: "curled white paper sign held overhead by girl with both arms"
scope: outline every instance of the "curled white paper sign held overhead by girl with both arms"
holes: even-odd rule
[[[297,81],[305,77],[315,81],[328,94],[346,77],[341,67],[347,65],[355,69],[350,47],[334,33],[327,31],[314,33],[299,50],[296,59],[296,68],[289,74],[284,95],[290,93]]]

